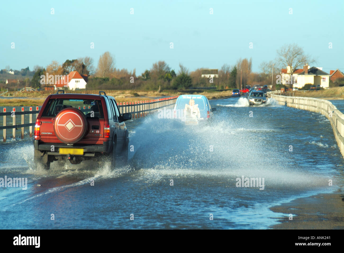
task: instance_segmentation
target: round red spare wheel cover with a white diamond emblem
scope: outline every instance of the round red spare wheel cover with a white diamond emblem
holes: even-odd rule
[[[82,111],[70,107],[61,110],[54,121],[56,137],[67,144],[80,141],[87,129],[87,121]]]

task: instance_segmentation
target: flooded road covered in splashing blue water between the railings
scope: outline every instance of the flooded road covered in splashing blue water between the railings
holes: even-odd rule
[[[324,116],[271,99],[210,103],[212,125],[158,114],[126,122],[133,152],[114,171],[90,161],[43,171],[33,166],[29,137],[1,143],[0,177],[27,178],[28,189],[0,188],[0,228],[267,229],[285,216],[270,207],[343,185],[343,158]],[[264,179],[264,187],[238,184],[242,177]]]

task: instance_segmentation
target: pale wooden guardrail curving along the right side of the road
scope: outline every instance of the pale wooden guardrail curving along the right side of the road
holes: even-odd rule
[[[344,114],[337,109],[330,101],[319,98],[310,97],[287,97],[276,95],[276,93],[269,92],[268,97],[278,101],[280,105],[318,112],[330,120],[334,137],[337,141],[338,147],[344,157]]]

